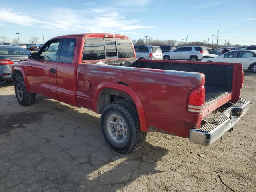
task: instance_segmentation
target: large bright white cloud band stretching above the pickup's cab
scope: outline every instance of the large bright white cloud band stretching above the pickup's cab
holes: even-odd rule
[[[126,19],[120,13],[122,10],[112,7],[100,7],[74,10],[69,8],[54,8],[48,14],[33,15],[15,12],[12,9],[0,9],[1,24],[17,24],[35,26],[54,31],[68,32],[106,32],[126,31],[153,26],[143,26],[136,19]],[[1,12],[4,14],[1,14]]]

